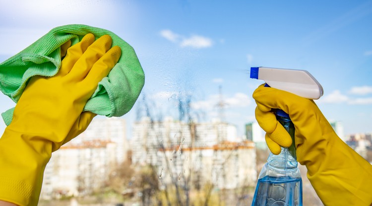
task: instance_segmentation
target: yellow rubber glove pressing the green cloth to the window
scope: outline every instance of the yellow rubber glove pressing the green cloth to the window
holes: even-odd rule
[[[84,131],[94,117],[82,110],[121,56],[120,47],[111,44],[108,35],[95,41],[87,34],[67,50],[55,76],[34,76],[28,82],[0,138],[0,200],[38,204],[52,151]]]

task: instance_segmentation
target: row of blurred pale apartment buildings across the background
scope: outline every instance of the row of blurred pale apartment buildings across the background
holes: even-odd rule
[[[113,127],[115,130],[110,129]],[[332,127],[337,133],[342,133],[341,125],[332,123]],[[117,161],[123,159],[129,160],[136,169],[147,164],[155,166],[155,178],[163,189],[166,188],[164,184],[177,184],[180,189],[184,188],[184,184],[190,183],[187,183],[190,181],[187,176],[191,171],[194,172],[194,179],[191,179],[190,188],[200,189],[211,180],[219,189],[234,190],[244,185],[254,187],[255,177],[262,166],[261,162],[256,168],[256,152],[267,151],[267,148],[257,146],[264,139],[256,123],[247,129],[250,133],[248,140],[237,138],[233,125],[216,120],[186,123],[170,117],[163,121],[151,121],[149,117],[144,117],[135,124],[132,141],[124,143],[126,128],[122,118],[95,119],[85,134],[54,153],[45,171],[42,197],[44,200],[72,195],[78,198],[97,191],[107,183],[109,176],[115,174],[112,172],[115,172],[113,169],[118,165]],[[368,155],[367,149],[371,142],[371,134],[355,135],[349,140],[351,146],[369,160],[371,155]],[[126,144],[124,150],[115,149],[121,148],[123,143]],[[127,150],[132,150],[130,156],[117,158]],[[259,159],[264,161],[266,157],[261,154]],[[304,166],[300,167],[304,169]],[[307,181],[306,171],[301,173]],[[68,181],[62,181],[64,179]],[[307,185],[310,186],[310,183],[307,182]],[[318,200],[308,186],[305,187],[306,197]],[[129,189],[125,191],[132,190]],[[243,194],[246,201],[249,201],[248,193],[245,191]]]

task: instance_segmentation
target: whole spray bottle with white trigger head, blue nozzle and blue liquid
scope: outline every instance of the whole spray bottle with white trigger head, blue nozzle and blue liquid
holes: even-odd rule
[[[306,70],[250,68],[250,78],[261,79],[265,86],[291,92],[308,99],[319,99],[323,88]],[[273,109],[276,119],[292,137],[289,148],[278,155],[270,152],[256,186],[252,206],[302,206],[302,179],[297,167],[295,127],[287,113]]]

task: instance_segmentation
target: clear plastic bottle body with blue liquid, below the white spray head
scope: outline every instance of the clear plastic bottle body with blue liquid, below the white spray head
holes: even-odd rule
[[[270,152],[256,186],[252,206],[302,206],[302,179],[297,167],[295,128],[288,114],[275,111],[277,120],[292,137],[289,148],[281,148],[278,155]]]

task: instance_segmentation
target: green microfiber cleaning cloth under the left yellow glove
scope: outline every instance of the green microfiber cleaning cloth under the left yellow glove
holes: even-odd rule
[[[0,64],[0,90],[18,102],[28,80],[34,75],[53,76],[61,67],[61,45],[71,40],[78,43],[92,33],[98,39],[108,34],[113,46],[122,49],[122,56],[109,75],[99,82],[84,107],[97,115],[120,117],[137,100],[144,84],[144,73],[134,49],[116,34],[101,28],[71,24],[52,29],[35,43]],[[14,108],[1,114],[6,125],[11,123]]]

